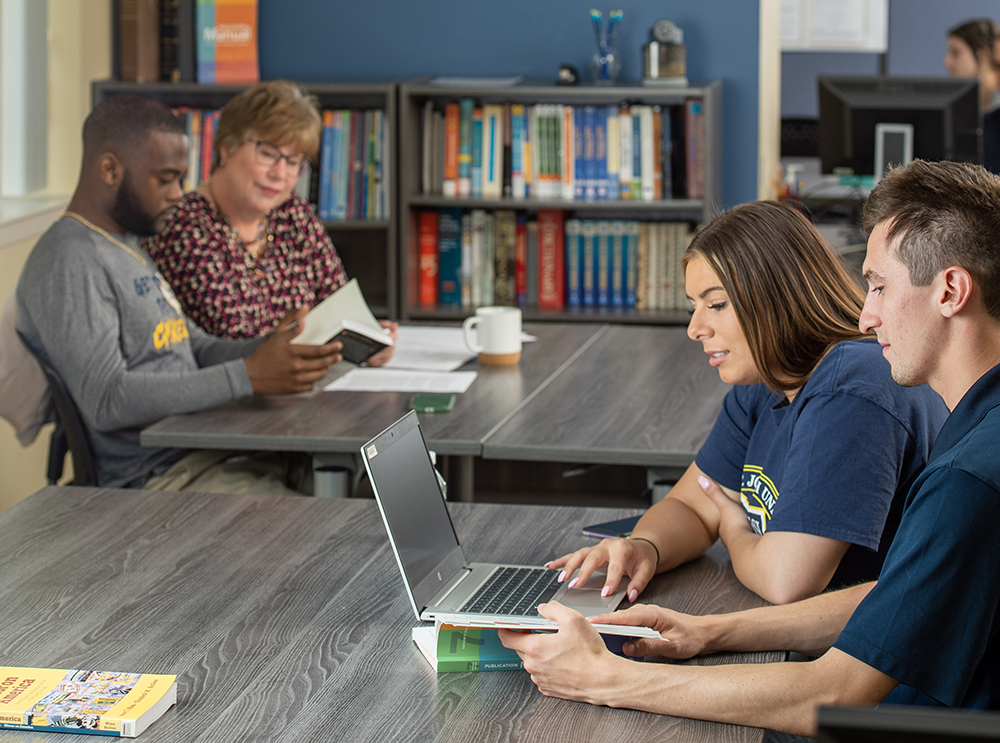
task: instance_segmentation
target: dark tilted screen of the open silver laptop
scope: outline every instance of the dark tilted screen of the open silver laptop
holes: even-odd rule
[[[401,418],[362,451],[400,567],[416,588],[459,549],[417,414]]]

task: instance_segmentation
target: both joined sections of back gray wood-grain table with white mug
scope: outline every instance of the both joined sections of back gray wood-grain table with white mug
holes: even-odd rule
[[[686,467],[728,389],[684,328],[535,323],[513,367],[480,367],[455,409],[420,415],[428,446],[490,459]],[[256,396],[142,432],[147,446],[349,452],[400,418],[409,395]]]

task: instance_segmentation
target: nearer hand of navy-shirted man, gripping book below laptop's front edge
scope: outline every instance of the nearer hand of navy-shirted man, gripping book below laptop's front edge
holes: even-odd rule
[[[611,654],[583,615],[558,601],[542,604],[538,613],[559,623],[558,632],[522,634],[499,630],[500,642],[517,651],[524,670],[547,697],[608,704],[604,693],[616,671],[632,661]]]

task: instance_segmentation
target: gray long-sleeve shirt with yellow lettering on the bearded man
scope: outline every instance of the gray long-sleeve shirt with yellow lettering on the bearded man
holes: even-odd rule
[[[17,285],[17,330],[80,409],[101,485],[141,485],[186,452],[139,431],[253,393],[242,359],[261,339],[213,338],[188,320],[133,235],[126,247],[72,217],[35,245]]]

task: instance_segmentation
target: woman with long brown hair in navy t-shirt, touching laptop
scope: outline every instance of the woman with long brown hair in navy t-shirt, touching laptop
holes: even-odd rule
[[[947,416],[941,398],[893,383],[858,330],[860,286],[792,207],[734,208],[682,263],[688,336],[735,386],[695,462],[630,539],[549,566],[561,579],[579,568],[573,586],[606,565],[605,594],[627,573],[635,601],[654,574],[721,538],[740,581],[774,604],[873,580]]]

